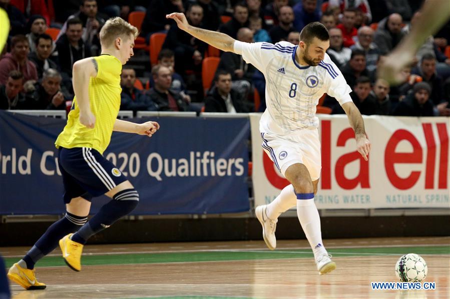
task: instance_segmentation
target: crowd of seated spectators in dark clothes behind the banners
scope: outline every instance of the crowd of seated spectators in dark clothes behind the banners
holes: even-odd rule
[[[406,67],[407,80],[389,86],[377,65],[409,32],[421,26],[421,0],[0,0],[11,21],[8,45],[0,53],[0,109],[70,109],[72,67],[100,54],[99,32],[109,17],[145,13],[140,36],[150,42],[166,33],[158,61],[121,75],[122,110],[240,113],[263,111],[264,76],[242,56],[217,52],[220,62],[211,88],[203,89],[202,63],[211,56],[204,42],[180,30],[166,14],[184,12],[193,26],[245,42],[286,40],[312,21],[329,30],[327,54],[339,67],[351,98],[365,115],[449,116],[450,22],[429,36]],[[49,28],[59,33],[51,36]],[[135,57],[148,57],[148,48]],[[139,83],[139,84],[138,84]],[[143,83],[143,84],[141,84]],[[145,86],[145,87],[144,87]],[[261,105],[254,107],[255,91]],[[344,113],[325,95],[320,105]],[[201,108],[203,107],[203,108]]]

